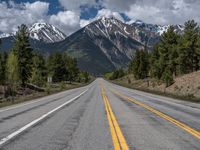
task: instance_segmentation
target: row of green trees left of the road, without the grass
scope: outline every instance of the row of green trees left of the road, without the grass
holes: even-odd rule
[[[1,44],[1,43],[0,43]],[[8,53],[0,52],[0,85],[26,87],[27,83],[44,86],[47,77],[53,82],[89,81],[89,74],[78,69],[76,59],[66,53],[44,56],[35,52],[29,43],[28,27],[18,27],[15,44]]]

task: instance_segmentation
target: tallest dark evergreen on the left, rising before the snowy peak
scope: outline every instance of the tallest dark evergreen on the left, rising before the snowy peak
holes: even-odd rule
[[[33,57],[32,51],[33,50],[29,43],[29,30],[26,25],[22,24],[18,27],[18,31],[16,33],[14,52],[18,58],[19,77],[23,87],[31,77]]]

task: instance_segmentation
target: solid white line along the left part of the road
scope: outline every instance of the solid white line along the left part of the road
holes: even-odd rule
[[[0,147],[2,147],[4,144],[6,144],[7,142],[9,142],[10,140],[12,140],[13,138],[15,138],[16,136],[18,136],[19,134],[21,134],[22,132],[24,132],[25,130],[29,129],[30,127],[36,125],[38,122],[42,121],[43,119],[45,119],[46,117],[48,117],[49,115],[51,115],[52,113],[58,111],[59,109],[63,108],[64,106],[66,106],[67,104],[73,102],[74,100],[76,100],[77,98],[79,98],[81,95],[83,95],[84,93],[86,93],[88,91],[85,90],[83,91],[81,94],[79,94],[78,96],[70,99],[69,101],[65,102],[64,104],[56,107],[55,109],[49,111],[48,113],[42,115],[41,117],[39,117],[38,119],[33,120],[32,122],[28,123],[27,125],[23,126],[22,128],[16,130],[15,132],[11,133],[10,135],[8,135],[7,137],[3,138],[0,140]]]

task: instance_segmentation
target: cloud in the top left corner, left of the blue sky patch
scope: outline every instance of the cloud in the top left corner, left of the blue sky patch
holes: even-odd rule
[[[32,24],[38,21],[44,21],[49,10],[49,3],[34,2],[15,4],[12,1],[9,3],[0,3],[0,30],[10,33],[17,30],[17,26],[22,23]]]

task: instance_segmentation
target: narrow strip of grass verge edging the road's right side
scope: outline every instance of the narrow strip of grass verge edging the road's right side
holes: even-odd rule
[[[147,92],[147,93],[151,93],[151,94],[157,94],[157,95],[161,95],[161,96],[175,98],[175,99],[178,99],[178,100],[200,103],[200,99],[194,97],[193,95],[175,95],[175,94],[171,94],[171,93],[166,93],[166,92],[164,93],[164,92],[161,92],[161,91],[150,90],[150,89],[146,89],[146,88],[138,88],[137,86],[134,86],[132,84],[126,83],[125,81],[119,81],[119,80],[114,80],[114,81],[110,81],[110,82],[115,83],[115,84],[120,85],[120,86],[130,88],[130,89],[139,90],[139,91],[143,91],[143,92]]]

